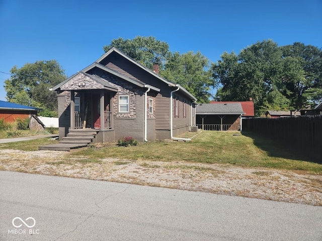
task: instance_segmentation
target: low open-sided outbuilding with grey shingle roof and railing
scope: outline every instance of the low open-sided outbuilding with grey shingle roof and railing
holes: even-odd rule
[[[242,114],[245,114],[245,111],[240,103],[199,104],[196,107],[196,123],[202,130],[238,131]]]

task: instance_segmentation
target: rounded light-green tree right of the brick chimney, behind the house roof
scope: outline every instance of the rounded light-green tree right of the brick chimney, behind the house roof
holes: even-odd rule
[[[210,86],[214,85],[211,73],[208,71],[210,61],[200,52],[192,51],[180,54],[170,54],[165,68],[160,75],[166,79],[182,85],[192,93],[198,102],[209,102]]]

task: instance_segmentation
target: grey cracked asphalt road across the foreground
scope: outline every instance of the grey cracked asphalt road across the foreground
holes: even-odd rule
[[[0,171],[0,240],[322,240],[322,207]]]

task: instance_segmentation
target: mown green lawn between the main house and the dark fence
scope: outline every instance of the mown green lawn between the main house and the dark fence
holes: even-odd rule
[[[303,170],[322,174],[322,165],[305,157],[295,156],[274,142],[233,132],[207,132],[198,134],[192,142],[154,141],[135,147],[108,145],[101,149],[85,149],[71,155],[89,158],[120,158],[128,160],[187,161],[199,163],[233,164],[241,167]]]

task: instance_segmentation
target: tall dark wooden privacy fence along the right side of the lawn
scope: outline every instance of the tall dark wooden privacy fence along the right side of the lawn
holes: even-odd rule
[[[269,137],[322,163],[322,115],[243,119],[243,131]]]

